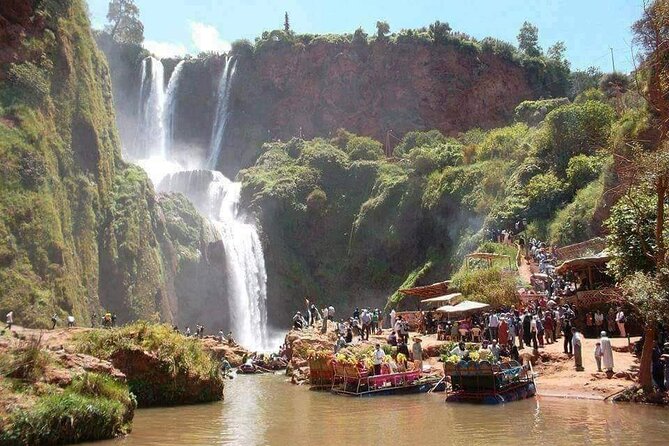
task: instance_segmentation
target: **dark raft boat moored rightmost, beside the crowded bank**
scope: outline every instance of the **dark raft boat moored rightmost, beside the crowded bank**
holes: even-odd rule
[[[444,363],[451,379],[447,402],[500,404],[531,398],[536,393],[534,375],[517,361]]]

